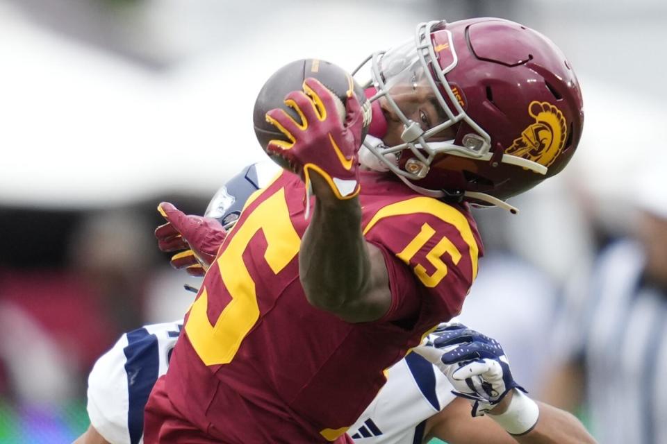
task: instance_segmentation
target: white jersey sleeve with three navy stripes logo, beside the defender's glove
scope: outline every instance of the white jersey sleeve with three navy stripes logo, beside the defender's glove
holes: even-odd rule
[[[416,353],[389,369],[387,382],[347,433],[359,444],[420,444],[426,420],[454,400],[440,370]]]

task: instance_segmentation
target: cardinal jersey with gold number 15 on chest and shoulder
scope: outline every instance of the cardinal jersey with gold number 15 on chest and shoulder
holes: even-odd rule
[[[361,228],[384,253],[393,300],[381,319],[347,323],[312,307],[299,282],[304,196],[283,172],[246,203],[151,393],[147,443],[189,432],[223,443],[349,442],[385,370],[459,314],[482,253],[465,205],[363,172]]]

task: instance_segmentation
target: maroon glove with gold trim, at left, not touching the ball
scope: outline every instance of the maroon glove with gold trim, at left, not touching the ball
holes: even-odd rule
[[[168,202],[160,203],[158,212],[167,219],[167,223],[155,230],[158,248],[167,253],[183,250],[172,256],[172,266],[185,268],[193,276],[206,274],[227,235],[220,222],[211,217],[186,215]]]

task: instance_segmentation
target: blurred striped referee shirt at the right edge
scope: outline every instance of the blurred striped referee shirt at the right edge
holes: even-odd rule
[[[591,428],[605,444],[667,443],[667,294],[645,282],[644,260],[631,241],[609,246],[561,330],[570,359],[584,359]]]

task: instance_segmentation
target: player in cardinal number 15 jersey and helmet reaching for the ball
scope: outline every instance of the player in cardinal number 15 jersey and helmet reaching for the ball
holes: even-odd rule
[[[267,112],[290,141],[267,150],[298,174],[251,196],[217,251],[149,396],[146,443],[350,442],[384,370],[461,310],[482,254],[467,202],[516,211],[504,199],[579,142],[575,74],[525,26],[420,24],[371,65],[374,143],[356,96],[340,121],[313,78],[286,97],[300,121]],[[386,171],[362,171],[362,142]]]

